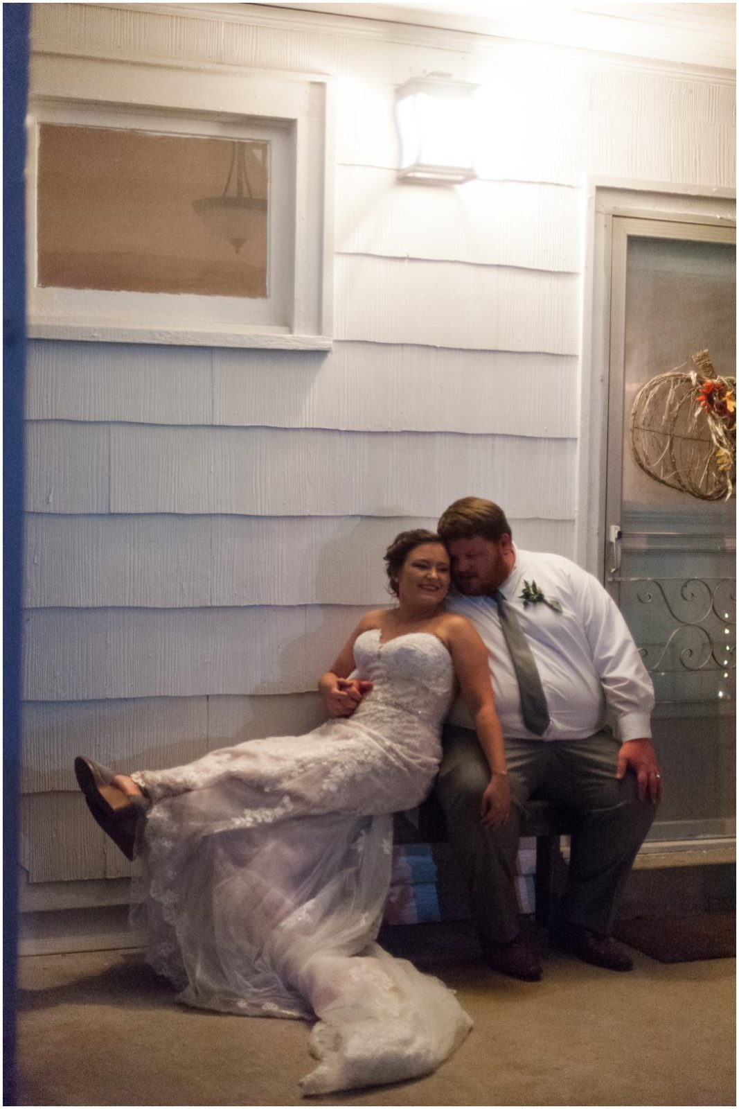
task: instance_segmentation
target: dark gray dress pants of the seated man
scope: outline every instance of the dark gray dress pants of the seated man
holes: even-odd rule
[[[447,725],[443,745],[435,791],[483,945],[519,935],[516,854],[532,795],[566,805],[577,825],[562,920],[610,935],[618,896],[656,812],[656,805],[638,800],[632,771],[616,779],[619,743],[610,732],[551,742],[506,739],[512,804],[509,820],[497,828],[480,823],[490,770],[475,733]]]

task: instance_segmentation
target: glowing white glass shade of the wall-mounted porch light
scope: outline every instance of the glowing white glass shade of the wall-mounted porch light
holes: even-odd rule
[[[433,74],[400,85],[396,101],[400,180],[459,184],[476,177],[472,110],[476,89]]]

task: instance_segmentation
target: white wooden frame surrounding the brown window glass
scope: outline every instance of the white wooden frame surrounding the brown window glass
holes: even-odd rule
[[[27,170],[28,334],[187,346],[331,347],[332,134],[326,78],[40,55]],[[266,140],[268,295],[105,292],[37,284],[42,123]]]

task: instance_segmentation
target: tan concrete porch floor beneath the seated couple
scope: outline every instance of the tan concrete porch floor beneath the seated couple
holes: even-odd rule
[[[136,952],[20,960],[19,1103],[179,1106],[729,1106],[735,960],[632,974],[547,949],[542,983],[479,960],[469,925],[414,925],[382,942],[459,991],[474,1028],[437,1074],[301,1102],[300,1021],[175,1004]]]

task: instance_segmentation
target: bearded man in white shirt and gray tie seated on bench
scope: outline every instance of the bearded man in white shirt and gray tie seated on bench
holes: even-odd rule
[[[568,806],[577,827],[555,940],[586,963],[630,970],[610,932],[661,793],[654,692],[634,640],[595,578],[560,556],[519,550],[492,501],[455,501],[439,533],[456,589],[448,609],[472,621],[489,651],[513,801],[504,825],[481,824],[490,771],[458,700],[437,792],[485,959],[514,978],[542,977],[520,936],[514,886],[521,821],[535,794]]]

